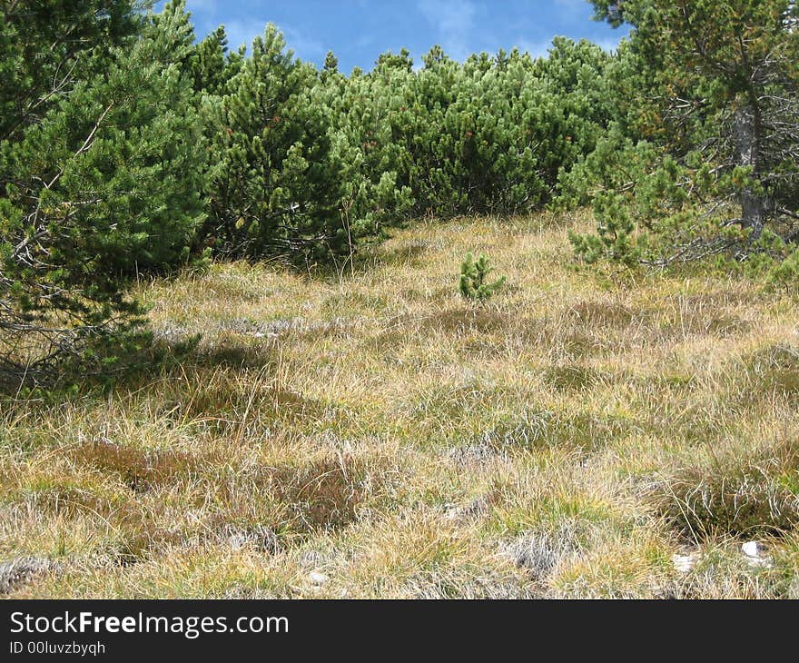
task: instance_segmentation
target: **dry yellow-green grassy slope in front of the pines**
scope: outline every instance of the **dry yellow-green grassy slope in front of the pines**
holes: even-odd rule
[[[0,591],[799,597],[796,303],[603,282],[565,223],[419,225],[341,281],[146,288],[159,335],[203,334],[182,366],[2,403],[0,559],[29,559]],[[468,250],[508,276],[485,306],[457,295]]]

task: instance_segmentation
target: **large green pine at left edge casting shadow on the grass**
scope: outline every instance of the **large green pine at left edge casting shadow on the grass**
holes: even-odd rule
[[[65,25],[86,11],[71,6]],[[205,154],[182,72],[193,40],[184,5],[166,5],[157,21],[127,19],[119,17],[139,35],[105,49],[97,33],[41,115],[25,106],[0,142],[0,333],[16,349],[0,355],[28,374],[135,323],[126,282],[184,261],[202,215]]]

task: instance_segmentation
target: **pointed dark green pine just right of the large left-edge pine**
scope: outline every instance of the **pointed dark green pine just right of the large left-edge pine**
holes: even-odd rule
[[[220,160],[204,234],[227,256],[328,260],[349,251],[330,109],[315,97],[319,74],[287,51],[269,25],[212,109]]]

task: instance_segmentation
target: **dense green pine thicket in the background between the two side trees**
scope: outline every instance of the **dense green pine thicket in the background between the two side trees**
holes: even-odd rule
[[[612,114],[610,56],[565,39],[547,60],[436,48],[419,71],[403,52],[349,77],[332,54],[322,71],[296,60],[271,26],[247,58],[221,32],[198,51],[219,158],[204,235],[225,255],[320,261],[414,216],[536,209]]]

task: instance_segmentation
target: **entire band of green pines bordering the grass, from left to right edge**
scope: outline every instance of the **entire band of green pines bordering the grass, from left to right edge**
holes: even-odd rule
[[[799,272],[797,7],[607,2],[616,54],[556,38],[349,75],[268,26],[199,43],[183,2],[0,2],[6,369],[135,322],[137,274],[211,254],[347,261],[419,216],[593,203],[587,262]],[[10,341],[6,341],[10,339]]]

